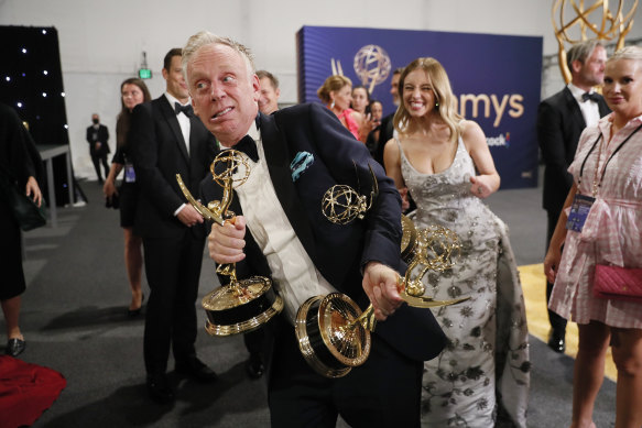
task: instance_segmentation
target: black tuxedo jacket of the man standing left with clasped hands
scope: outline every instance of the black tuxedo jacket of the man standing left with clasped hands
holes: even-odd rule
[[[174,216],[186,201],[176,174],[196,194],[217,151],[216,140],[198,118],[191,118],[187,154],[176,113],[164,95],[138,105],[131,120],[128,153],[140,189],[135,233],[142,238],[178,238],[188,229]],[[205,233],[204,228],[189,229]]]

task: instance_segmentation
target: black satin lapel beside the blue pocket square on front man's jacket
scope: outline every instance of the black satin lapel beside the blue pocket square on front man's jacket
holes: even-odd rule
[[[315,257],[315,240],[308,218],[305,215],[304,207],[296,195],[296,188],[292,183],[292,175],[290,171],[290,147],[287,142],[276,128],[276,123],[272,116],[264,116],[260,113],[260,129],[263,151],[265,152],[265,163],[272,184],[276,191],[276,197],[283,207],[283,211],[287,216],[294,232],[298,240],[307,251],[311,259]],[[320,210],[320,201],[318,209]]]

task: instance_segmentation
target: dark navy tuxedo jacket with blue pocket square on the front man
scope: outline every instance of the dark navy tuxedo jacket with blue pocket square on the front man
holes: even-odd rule
[[[270,178],[292,228],[322,275],[364,309],[369,301],[361,272],[369,261],[402,274],[405,270],[400,257],[401,199],[394,183],[372,162],[366,145],[320,105],[295,106],[271,116],[260,113],[258,121]],[[307,160],[305,168],[298,162],[302,158]],[[322,212],[324,194],[341,184],[370,195],[373,184],[368,165],[379,186],[372,207],[362,220],[345,226],[330,222]],[[221,194],[213,179],[204,180],[204,202],[220,200]],[[236,193],[230,209],[242,215]],[[244,251],[246,259],[237,263],[238,277],[269,277],[270,268],[249,228]],[[376,333],[416,361],[433,359],[446,343],[431,310],[407,305],[379,322]]]

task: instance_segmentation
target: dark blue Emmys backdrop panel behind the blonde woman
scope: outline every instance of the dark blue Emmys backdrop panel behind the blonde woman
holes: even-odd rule
[[[420,56],[439,61],[458,110],[478,122],[501,176],[501,188],[537,186],[535,121],[542,79],[542,37],[433,31],[303,26],[296,35],[298,101],[337,72],[395,108],[392,72]]]

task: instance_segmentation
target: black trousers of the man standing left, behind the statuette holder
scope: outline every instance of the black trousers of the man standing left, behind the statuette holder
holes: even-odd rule
[[[170,348],[175,361],[195,355],[196,297],[204,237],[186,230],[182,238],[143,238],[151,294],[145,311],[144,360],[148,374],[167,370]]]

